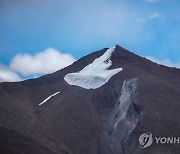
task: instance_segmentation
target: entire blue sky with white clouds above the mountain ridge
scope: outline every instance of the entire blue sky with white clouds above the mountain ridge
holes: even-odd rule
[[[0,0],[0,82],[120,45],[180,68],[179,0]]]

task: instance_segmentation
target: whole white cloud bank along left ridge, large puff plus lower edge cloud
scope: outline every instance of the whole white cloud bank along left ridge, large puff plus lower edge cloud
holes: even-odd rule
[[[21,81],[27,76],[53,73],[74,61],[75,58],[71,54],[61,53],[54,48],[48,48],[35,55],[17,54],[11,59],[9,67],[0,64],[0,82]]]

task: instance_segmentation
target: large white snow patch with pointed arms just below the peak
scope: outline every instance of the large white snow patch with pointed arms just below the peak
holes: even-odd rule
[[[108,70],[112,65],[111,54],[115,47],[109,48],[102,56],[95,59],[91,64],[84,67],[81,71],[66,74],[64,80],[70,84],[85,89],[96,89],[104,85],[108,80],[122,68]]]

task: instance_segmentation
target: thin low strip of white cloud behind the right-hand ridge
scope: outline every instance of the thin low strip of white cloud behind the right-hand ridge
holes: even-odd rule
[[[149,60],[151,60],[157,64],[160,64],[160,65],[164,65],[164,66],[168,66],[168,67],[175,67],[175,68],[180,69],[180,63],[173,63],[168,59],[159,60],[159,59],[156,59],[156,58],[151,57],[151,56],[146,56],[145,58],[147,58],[147,59],[149,59]]]

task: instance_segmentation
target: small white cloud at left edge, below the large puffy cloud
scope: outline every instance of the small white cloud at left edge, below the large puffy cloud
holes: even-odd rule
[[[17,73],[0,64],[0,82],[15,82],[20,80],[22,79]]]

